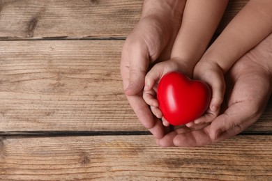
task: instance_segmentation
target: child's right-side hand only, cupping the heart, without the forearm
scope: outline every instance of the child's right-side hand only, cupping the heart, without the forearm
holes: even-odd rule
[[[220,113],[220,106],[224,100],[225,80],[224,72],[216,63],[209,60],[201,60],[193,72],[194,79],[205,81],[211,86],[211,103],[209,109],[204,115],[192,123],[186,124],[188,127],[199,125],[202,123],[210,123]]]

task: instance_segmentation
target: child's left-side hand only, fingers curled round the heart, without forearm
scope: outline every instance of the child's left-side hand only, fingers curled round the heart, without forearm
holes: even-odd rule
[[[163,118],[163,113],[159,109],[157,100],[157,88],[160,79],[168,72],[181,71],[188,76],[192,74],[192,65],[185,65],[185,62],[179,58],[172,58],[169,61],[157,63],[146,74],[144,83],[143,98],[146,104],[149,104],[152,113],[163,120],[163,125],[169,126],[169,123]]]

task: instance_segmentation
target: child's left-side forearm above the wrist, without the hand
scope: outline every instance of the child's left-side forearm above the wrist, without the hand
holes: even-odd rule
[[[188,0],[172,58],[195,65],[204,54],[227,6],[227,0]]]

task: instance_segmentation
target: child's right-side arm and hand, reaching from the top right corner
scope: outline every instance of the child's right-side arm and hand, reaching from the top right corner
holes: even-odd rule
[[[271,0],[251,0],[195,66],[194,78],[206,81],[213,93],[208,113],[195,120],[196,124],[211,122],[218,116],[225,95],[224,74],[272,31],[271,9]]]

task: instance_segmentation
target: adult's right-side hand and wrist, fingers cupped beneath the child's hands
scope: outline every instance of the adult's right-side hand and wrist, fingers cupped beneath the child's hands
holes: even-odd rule
[[[255,123],[262,115],[272,90],[272,35],[245,54],[226,74],[225,110],[201,127],[174,128],[161,146],[199,146],[228,139]]]

